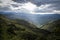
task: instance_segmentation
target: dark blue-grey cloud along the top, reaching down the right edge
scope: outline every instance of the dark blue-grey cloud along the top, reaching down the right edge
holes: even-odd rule
[[[26,3],[31,2],[37,6],[41,6],[44,4],[52,4],[52,7],[55,7],[56,10],[60,10],[60,0],[13,0],[17,3]]]

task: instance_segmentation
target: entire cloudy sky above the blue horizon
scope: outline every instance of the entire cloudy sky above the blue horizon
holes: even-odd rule
[[[0,0],[0,11],[60,14],[60,0]]]

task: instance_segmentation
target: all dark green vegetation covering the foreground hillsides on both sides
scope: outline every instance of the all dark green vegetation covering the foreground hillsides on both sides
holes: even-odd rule
[[[45,27],[48,27],[44,29]],[[48,30],[50,28],[50,30]],[[53,30],[51,30],[53,29]],[[26,20],[10,20],[0,15],[0,40],[58,40],[60,39],[60,20],[37,28]]]

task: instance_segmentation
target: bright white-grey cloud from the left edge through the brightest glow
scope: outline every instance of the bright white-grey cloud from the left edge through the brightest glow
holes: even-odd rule
[[[24,12],[24,13],[30,13],[36,8],[36,5],[28,2],[25,4],[21,3],[16,3],[13,2],[12,0],[10,1],[11,3],[7,3],[2,1],[0,3],[0,11],[13,11],[13,12]],[[30,9],[29,9],[30,8]]]

